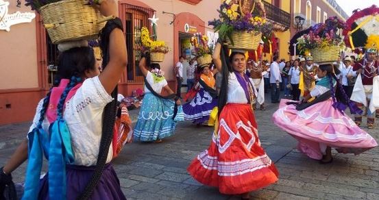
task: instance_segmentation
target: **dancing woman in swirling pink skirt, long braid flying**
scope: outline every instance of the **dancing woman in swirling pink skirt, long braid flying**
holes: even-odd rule
[[[350,112],[362,112],[349,101],[334,71],[338,71],[337,66],[321,64],[317,69],[320,80],[310,94],[301,103],[283,99],[273,114],[273,123],[299,141],[297,149],[321,164],[332,162],[332,147],[341,153],[358,154],[377,146],[376,140],[343,112],[347,105],[337,102],[336,84]],[[308,103],[312,97],[317,98]]]

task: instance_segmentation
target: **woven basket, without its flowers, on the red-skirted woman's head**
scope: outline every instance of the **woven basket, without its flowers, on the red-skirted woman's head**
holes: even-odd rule
[[[244,49],[247,51],[256,50],[258,48],[260,38],[262,37],[261,33],[258,32],[233,32],[232,42],[229,38],[226,39],[228,42],[229,49]]]

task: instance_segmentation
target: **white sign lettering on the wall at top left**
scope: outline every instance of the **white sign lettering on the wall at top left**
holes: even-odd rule
[[[11,25],[31,23],[36,14],[34,12],[14,12],[8,14],[8,1],[0,0],[0,30],[10,31]]]

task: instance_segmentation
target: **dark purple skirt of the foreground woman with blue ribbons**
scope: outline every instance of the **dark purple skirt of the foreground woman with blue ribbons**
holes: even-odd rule
[[[77,199],[82,194],[95,171],[96,166],[66,165],[67,199]],[[38,199],[49,199],[48,173],[40,181],[40,194]],[[121,191],[119,178],[108,163],[104,167],[103,174],[93,190],[90,199],[126,199]]]

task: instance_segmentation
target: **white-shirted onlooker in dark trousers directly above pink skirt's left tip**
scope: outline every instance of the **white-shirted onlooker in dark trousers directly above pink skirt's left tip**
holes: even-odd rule
[[[273,57],[273,62],[270,66],[270,84],[271,84],[271,103],[279,103],[280,96],[280,83],[282,77],[280,76],[278,55]]]

